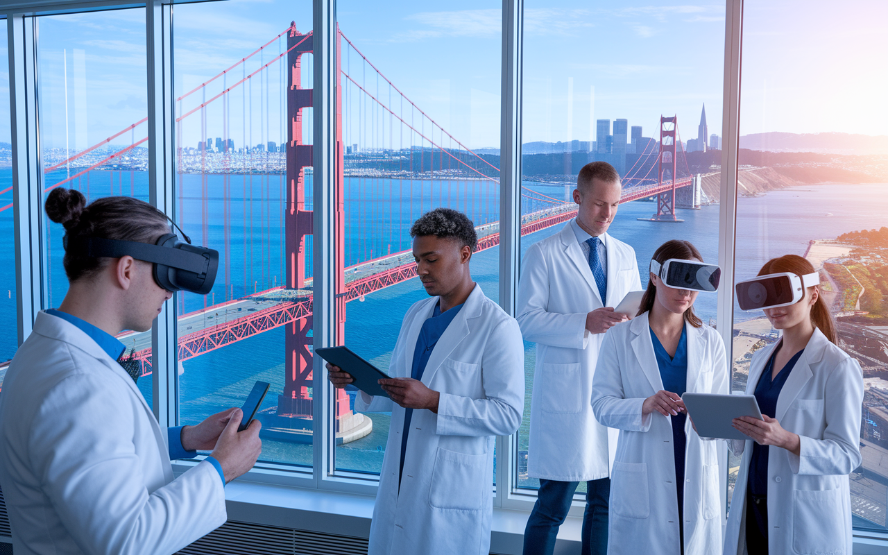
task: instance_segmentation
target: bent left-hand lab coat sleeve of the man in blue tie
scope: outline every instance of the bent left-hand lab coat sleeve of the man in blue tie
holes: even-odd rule
[[[517,319],[525,341],[585,349],[589,344],[586,315],[549,312],[549,268],[539,243],[531,245],[518,283]]]

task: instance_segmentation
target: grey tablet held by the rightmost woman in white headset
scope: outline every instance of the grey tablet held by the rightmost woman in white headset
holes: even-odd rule
[[[688,416],[694,419],[697,435],[702,438],[722,438],[724,440],[750,440],[731,425],[734,418],[752,416],[762,418],[755,395],[717,395],[715,393],[685,393]]]

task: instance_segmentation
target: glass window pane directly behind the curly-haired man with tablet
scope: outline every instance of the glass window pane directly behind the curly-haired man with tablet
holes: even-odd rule
[[[499,297],[501,4],[342,1],[340,139],[345,175],[345,313],[337,343],[388,369],[401,319],[427,298],[409,229],[437,207],[463,211],[478,230],[472,277]],[[337,400],[336,468],[378,474],[389,413],[355,414]]]

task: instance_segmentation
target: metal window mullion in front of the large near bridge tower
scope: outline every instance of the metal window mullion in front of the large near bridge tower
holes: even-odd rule
[[[334,344],[336,338],[335,245],[333,237],[336,145],[336,0],[313,0],[312,91],[313,129],[313,348]],[[316,487],[334,465],[332,388],[321,357],[313,363],[313,477]]]

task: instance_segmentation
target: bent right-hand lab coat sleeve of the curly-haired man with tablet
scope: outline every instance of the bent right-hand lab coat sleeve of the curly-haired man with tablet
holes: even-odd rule
[[[472,399],[440,392],[439,435],[511,435],[524,412],[524,344],[518,323],[500,322],[481,356],[484,397]]]

